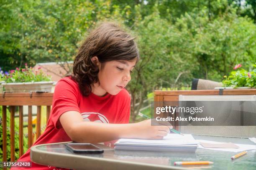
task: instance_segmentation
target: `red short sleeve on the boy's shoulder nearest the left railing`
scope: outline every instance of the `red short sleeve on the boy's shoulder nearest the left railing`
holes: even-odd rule
[[[54,89],[53,104],[51,110],[51,120],[56,129],[62,128],[59,117],[67,111],[77,111],[79,109],[79,88],[76,82],[69,77],[65,77],[56,84]]]

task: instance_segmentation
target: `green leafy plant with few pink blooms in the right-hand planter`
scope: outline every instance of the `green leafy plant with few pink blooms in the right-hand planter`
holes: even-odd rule
[[[225,87],[256,87],[256,63],[252,65],[254,69],[251,72],[240,68],[241,65],[236,65],[230,75],[223,80]]]

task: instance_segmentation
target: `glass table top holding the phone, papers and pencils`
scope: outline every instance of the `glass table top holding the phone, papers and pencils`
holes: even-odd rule
[[[217,142],[232,142],[239,144],[255,145],[248,138],[231,138],[231,137],[217,137],[217,136],[203,136],[193,135],[195,139],[213,140]],[[236,155],[234,152],[224,152],[218,150],[208,150],[197,148],[195,153],[182,152],[156,152],[156,151],[136,151],[136,150],[114,150],[105,145],[97,144],[104,149],[102,154],[75,154],[66,149],[64,143],[61,144],[47,144],[37,146],[36,149],[47,151],[51,153],[69,154],[70,159],[79,157],[95,157],[108,160],[129,161],[133,163],[146,163],[154,165],[165,165],[174,168],[176,161],[202,161],[208,160],[214,162],[212,165],[187,165],[175,166],[189,169],[212,169],[212,170],[256,170],[256,150],[248,150],[246,155],[241,156],[235,160],[231,160],[231,156]],[[100,161],[100,160],[99,160]]]

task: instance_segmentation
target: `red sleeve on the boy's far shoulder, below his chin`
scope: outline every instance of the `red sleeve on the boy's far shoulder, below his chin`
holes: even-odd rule
[[[116,122],[116,123],[120,123],[120,124],[129,123],[129,121],[130,121],[131,97],[127,90],[125,90],[124,95],[125,95],[125,97],[123,97],[123,98],[125,98],[126,100],[124,100],[125,102],[123,103],[124,106],[123,106],[121,116],[120,116],[118,122]]]

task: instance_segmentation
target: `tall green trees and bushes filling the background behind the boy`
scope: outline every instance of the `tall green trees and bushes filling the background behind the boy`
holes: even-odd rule
[[[221,81],[235,63],[249,69],[256,61],[256,6],[254,0],[241,2],[2,0],[0,67],[73,60],[91,28],[103,20],[118,21],[134,32],[141,54],[128,86],[136,121],[154,90],[179,90],[193,77]]]

